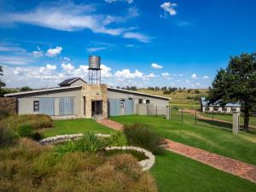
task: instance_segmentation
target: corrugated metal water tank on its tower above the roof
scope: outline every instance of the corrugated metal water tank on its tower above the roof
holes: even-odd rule
[[[101,84],[101,57],[89,56],[89,84]]]

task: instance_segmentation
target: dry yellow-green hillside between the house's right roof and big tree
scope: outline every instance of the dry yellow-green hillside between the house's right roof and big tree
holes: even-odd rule
[[[164,94],[163,90],[140,89],[139,92],[156,96],[166,96],[172,98],[171,104],[178,108],[200,108],[201,96],[207,96],[207,89],[175,90],[171,94]]]

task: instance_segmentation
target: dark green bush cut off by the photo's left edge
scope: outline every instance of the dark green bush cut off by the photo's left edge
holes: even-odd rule
[[[14,131],[10,131],[5,127],[0,125],[0,147],[7,147],[13,143],[15,143],[15,139],[17,136]]]

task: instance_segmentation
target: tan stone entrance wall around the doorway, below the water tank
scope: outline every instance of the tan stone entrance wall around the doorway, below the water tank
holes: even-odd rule
[[[84,103],[83,97],[85,97],[85,115],[84,115]],[[107,84],[84,84],[81,96],[81,102],[83,108],[80,113],[83,113],[85,118],[91,118],[91,102],[102,101],[102,117],[108,117],[108,86]]]

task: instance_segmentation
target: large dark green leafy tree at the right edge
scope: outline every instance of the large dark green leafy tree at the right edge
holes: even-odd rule
[[[243,129],[248,130],[249,112],[256,105],[256,53],[230,58],[228,67],[218,70],[209,90],[210,103],[240,102],[244,113]]]

